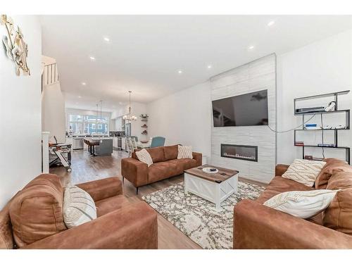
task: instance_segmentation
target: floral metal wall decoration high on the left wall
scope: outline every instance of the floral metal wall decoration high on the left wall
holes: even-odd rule
[[[20,70],[23,75],[30,75],[30,69],[27,66],[28,46],[23,39],[20,27],[14,30],[12,18],[7,15],[1,15],[0,25],[6,27],[7,36],[2,38],[6,48],[6,54],[15,63],[16,75],[20,76]]]

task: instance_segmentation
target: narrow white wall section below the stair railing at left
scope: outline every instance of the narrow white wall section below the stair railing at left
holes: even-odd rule
[[[60,83],[44,85],[42,92],[42,131],[50,132],[58,142],[65,142],[65,99]]]

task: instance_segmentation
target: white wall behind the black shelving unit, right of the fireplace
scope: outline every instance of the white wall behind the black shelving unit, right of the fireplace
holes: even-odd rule
[[[278,56],[277,88],[278,130],[289,130],[301,124],[301,117],[293,115],[294,98],[352,89],[352,31],[342,32]],[[328,101],[332,101],[332,98],[329,98],[325,103]],[[351,107],[352,92],[341,96],[341,101],[339,101],[340,109]],[[337,119],[325,115],[326,125],[329,122],[336,125],[344,124],[344,115],[330,115],[334,115]],[[320,116],[310,122],[317,122],[319,125]],[[318,144],[321,141],[320,133],[316,138],[314,136],[313,139],[310,139],[310,141],[312,140]],[[301,158],[301,147],[293,146],[293,132],[278,134],[277,143],[278,163],[289,164],[294,158]],[[352,130],[339,132],[339,144],[352,147]],[[333,151],[325,149],[327,155],[345,158],[344,151],[339,153],[336,150]],[[312,154],[322,156],[322,149],[314,149]]]

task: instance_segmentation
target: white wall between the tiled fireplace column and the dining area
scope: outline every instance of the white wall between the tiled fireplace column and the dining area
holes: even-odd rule
[[[210,83],[195,85],[147,104],[149,135],[165,145],[191,145],[210,157]]]

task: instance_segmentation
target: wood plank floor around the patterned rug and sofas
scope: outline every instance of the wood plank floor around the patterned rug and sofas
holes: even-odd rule
[[[79,184],[106,177],[117,176],[121,179],[121,158],[126,158],[127,153],[113,151],[112,156],[94,157],[87,150],[73,151],[72,172],[67,172],[63,167],[50,168],[50,172],[62,177],[63,184]],[[183,175],[175,176],[161,182],[139,187],[138,195],[134,186],[125,179],[123,194],[130,201],[142,201],[142,196],[153,191],[164,189],[171,185],[183,182]],[[173,226],[163,216],[158,214],[158,248],[159,249],[201,249],[201,246],[189,239],[180,230]]]

